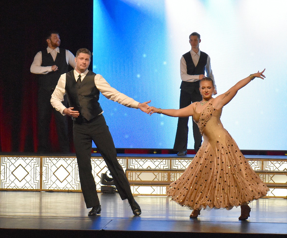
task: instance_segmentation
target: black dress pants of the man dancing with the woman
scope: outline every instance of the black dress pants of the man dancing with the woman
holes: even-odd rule
[[[133,199],[131,187],[122,166],[117,160],[117,152],[113,138],[103,115],[99,115],[90,121],[73,123],[73,137],[79,169],[79,178],[84,195],[86,207],[94,207],[100,204],[96,191],[96,183],[92,174],[91,150],[92,140],[98,151],[104,158],[110,174],[121,199]]]

